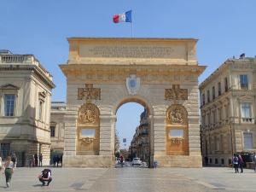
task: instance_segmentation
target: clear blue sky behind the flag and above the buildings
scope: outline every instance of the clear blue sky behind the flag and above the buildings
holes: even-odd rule
[[[52,101],[66,101],[67,38],[131,38],[130,23],[112,21],[130,9],[134,38],[199,39],[199,82],[233,55],[256,55],[255,0],[0,0],[0,49],[35,55],[53,75]]]

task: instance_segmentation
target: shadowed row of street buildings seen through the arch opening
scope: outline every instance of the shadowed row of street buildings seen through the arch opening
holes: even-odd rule
[[[141,114],[140,125],[137,126],[136,132],[131,140],[129,154],[133,157],[139,157],[141,160],[148,162],[148,113],[145,108]]]

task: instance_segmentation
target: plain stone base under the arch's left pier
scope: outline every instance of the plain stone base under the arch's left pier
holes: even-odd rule
[[[63,155],[65,167],[112,167],[114,157],[111,155]]]

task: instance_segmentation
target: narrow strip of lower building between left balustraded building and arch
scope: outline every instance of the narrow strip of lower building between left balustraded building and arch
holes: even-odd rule
[[[66,113],[65,102],[51,102],[50,110],[50,151],[62,154],[64,151],[64,116]]]

